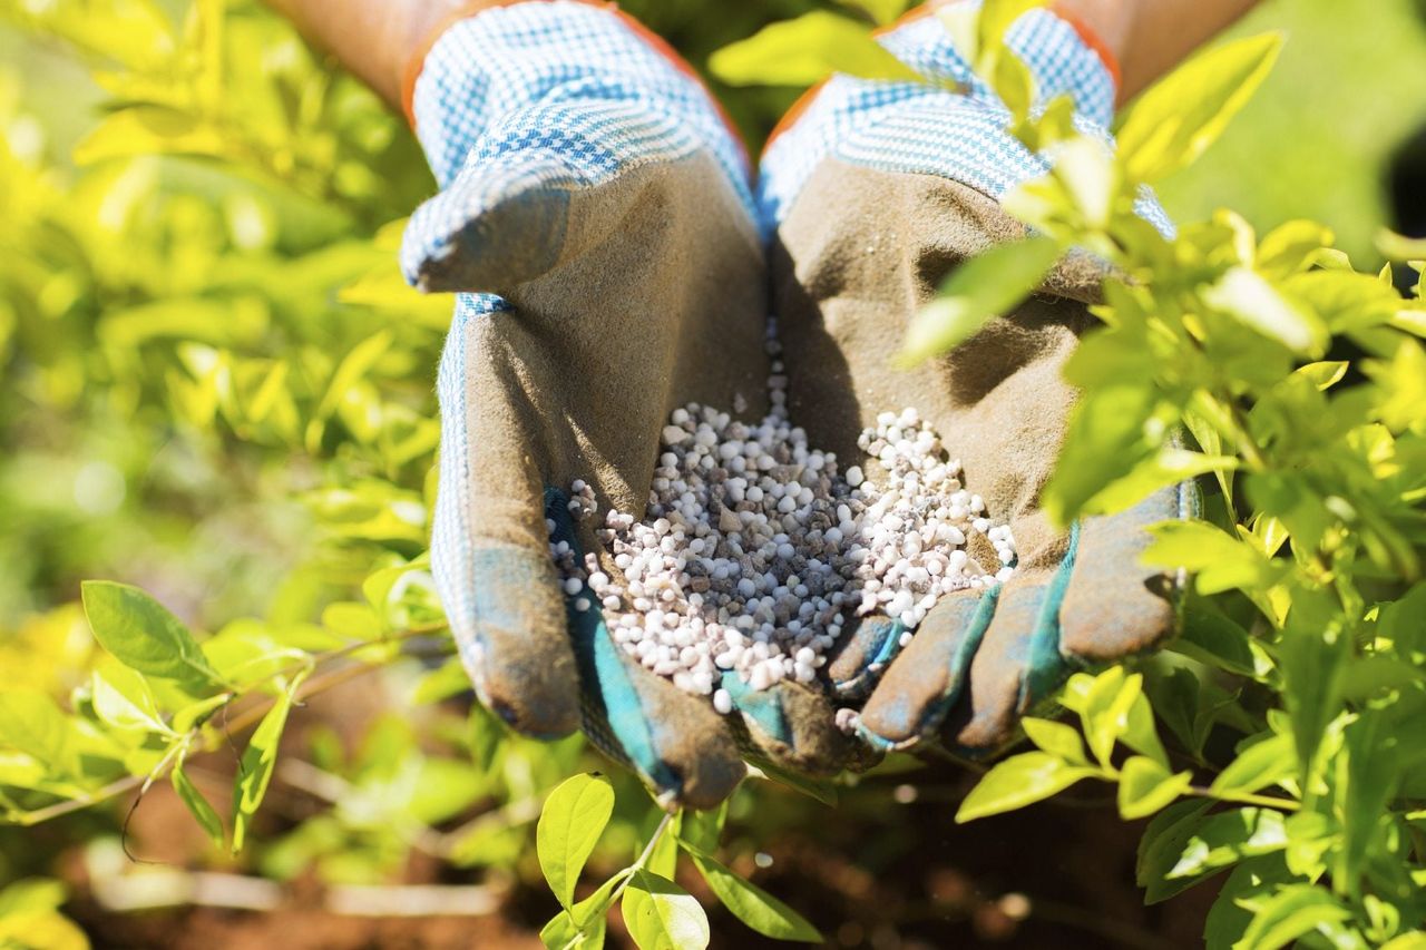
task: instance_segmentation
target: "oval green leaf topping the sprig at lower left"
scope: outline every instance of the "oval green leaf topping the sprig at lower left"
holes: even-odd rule
[[[215,690],[218,675],[198,642],[158,601],[111,581],[86,581],[81,591],[94,639],[120,663],[144,676],[177,680],[198,696]]]

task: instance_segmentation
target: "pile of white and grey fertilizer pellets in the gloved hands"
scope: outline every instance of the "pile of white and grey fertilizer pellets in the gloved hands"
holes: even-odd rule
[[[891,616],[906,640],[938,598],[1001,583],[1015,561],[1010,528],[991,523],[915,409],[883,412],[857,442],[884,482],[857,465],[840,471],[787,419],[776,338],[767,347],[769,415],[749,425],[696,404],[674,409],[643,521],[605,515],[595,533],[623,578],[595,552],[580,563],[568,542],[552,542],[576,609],[597,603],[616,643],[680,689],[712,695],[722,713],[732,709],[724,670],[752,689],[810,683],[847,618]],[[583,481],[569,508],[596,514]],[[1000,563],[967,555],[971,533]]]

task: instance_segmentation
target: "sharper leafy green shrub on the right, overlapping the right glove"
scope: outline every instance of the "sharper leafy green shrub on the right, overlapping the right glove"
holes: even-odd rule
[[[1115,271],[1095,308],[1102,327],[1065,368],[1081,399],[1047,509],[1060,523],[1114,514],[1199,472],[1216,492],[1206,518],[1155,526],[1145,552],[1194,578],[1172,655],[1071,679],[1060,705],[1081,729],[1025,720],[1037,750],[991,769],[957,817],[1111,782],[1125,819],[1156,816],[1139,852],[1151,902],[1231,869],[1209,946],[1406,946],[1426,927],[1426,746],[1413,729],[1426,709],[1420,284],[1403,300],[1389,272],[1353,271],[1305,221],[1258,240],[1222,211],[1165,237],[1135,214],[1147,185],[1224,131],[1279,44],[1199,54],[1122,118],[1117,154],[1054,106],[1014,128],[1055,165],[1005,207],[1035,242]],[[1021,98],[1024,81],[1010,83]],[[992,318],[984,300],[1004,292],[1007,261],[1021,291],[1048,270],[1040,252],[998,254],[918,317],[913,355],[915,339],[955,342]],[[1215,722],[1241,735],[1228,759],[1206,750]]]

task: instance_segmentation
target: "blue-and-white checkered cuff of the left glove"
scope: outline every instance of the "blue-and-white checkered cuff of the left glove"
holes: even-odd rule
[[[707,90],[613,7],[516,3],[455,23],[426,56],[412,114],[442,188],[466,164],[548,140],[590,181],[709,148],[747,191],[747,157]]]

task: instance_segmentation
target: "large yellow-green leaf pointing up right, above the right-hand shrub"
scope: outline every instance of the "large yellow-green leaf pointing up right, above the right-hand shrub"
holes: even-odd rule
[[[1282,48],[1278,34],[1224,43],[1192,57],[1138,98],[1118,130],[1134,181],[1195,163],[1248,104]]]

